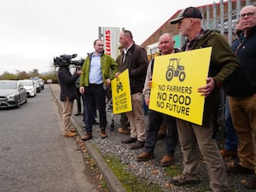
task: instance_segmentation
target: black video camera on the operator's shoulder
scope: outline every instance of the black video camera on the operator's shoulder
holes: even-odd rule
[[[73,61],[73,58],[76,58],[77,54],[73,55],[60,55],[54,58],[55,67],[69,67],[73,65],[74,67],[82,67],[84,60],[80,59],[79,61]]]

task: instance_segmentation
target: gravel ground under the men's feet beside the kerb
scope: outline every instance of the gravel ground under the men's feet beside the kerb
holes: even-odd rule
[[[75,108],[73,113],[76,113]],[[102,139],[100,137],[100,129],[98,128],[98,125],[94,125],[93,139],[90,140],[90,142],[94,143],[96,148],[98,148],[102,154],[113,154],[115,157],[121,160],[121,164],[125,165],[124,167],[128,172],[131,172],[131,174],[137,177],[144,178],[148,183],[152,182],[152,183],[159,184],[163,189],[163,191],[173,191],[173,192],[212,191],[209,187],[209,178],[207,176],[206,166],[202,158],[200,161],[201,183],[197,185],[190,184],[190,185],[179,186],[179,187],[175,186],[172,183],[170,183],[172,176],[170,174],[167,174],[166,170],[168,169],[171,171],[183,170],[183,164],[182,164],[183,155],[181,153],[179,145],[177,146],[176,153],[175,153],[175,160],[176,160],[175,164],[168,169],[159,165],[160,160],[165,152],[164,140],[159,140],[157,142],[154,150],[154,154],[155,154],[154,160],[149,160],[146,162],[137,162],[136,157],[138,154],[143,152],[143,148],[140,148],[137,150],[131,150],[129,148],[129,144],[120,143],[122,139],[129,136],[125,136],[117,132],[117,128],[119,127],[119,115],[113,115],[111,110],[108,110],[107,115],[108,115],[108,122],[110,122],[112,117],[114,119],[113,131],[110,131],[108,129],[107,130],[108,138]],[[82,125],[81,116],[73,116],[73,118],[76,119],[80,125]],[[148,116],[145,116],[145,119],[148,122]],[[96,120],[99,121],[98,119]],[[108,128],[109,128],[109,124],[108,124]],[[225,161],[226,163],[230,163],[230,161],[232,160],[225,160]],[[248,177],[251,177],[250,175],[239,175],[239,176],[229,175],[228,177],[229,177],[229,183],[232,188],[232,191],[234,192],[253,191],[245,188],[241,184],[242,182],[244,182],[245,179],[247,179]]]

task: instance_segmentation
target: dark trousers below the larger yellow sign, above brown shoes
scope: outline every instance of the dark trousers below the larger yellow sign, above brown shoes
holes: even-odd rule
[[[176,119],[164,113],[148,110],[148,129],[146,132],[146,141],[144,151],[154,153],[157,133],[163,120],[166,120],[166,154],[172,155],[177,146],[177,125]]]

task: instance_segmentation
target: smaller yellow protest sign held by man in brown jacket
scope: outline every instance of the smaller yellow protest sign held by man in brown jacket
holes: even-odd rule
[[[115,78],[111,81],[111,89],[113,114],[131,111],[131,90],[128,69],[119,74],[118,79]]]

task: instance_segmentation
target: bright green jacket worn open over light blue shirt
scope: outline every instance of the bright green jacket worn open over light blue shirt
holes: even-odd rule
[[[80,86],[89,86],[89,73],[90,73],[90,60],[92,53],[90,53],[82,66],[82,73],[80,76]],[[113,79],[114,74],[119,72],[118,64],[113,60],[110,55],[101,55],[101,66],[102,66],[102,79],[103,84],[106,84],[106,79]]]

